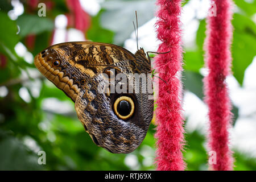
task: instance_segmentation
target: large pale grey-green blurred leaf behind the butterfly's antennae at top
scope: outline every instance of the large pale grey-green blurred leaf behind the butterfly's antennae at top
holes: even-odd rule
[[[119,46],[134,31],[135,10],[137,10],[139,26],[154,18],[156,10],[155,2],[149,0],[105,1],[102,3],[102,8],[106,11],[101,15],[101,26],[116,33],[114,44]]]

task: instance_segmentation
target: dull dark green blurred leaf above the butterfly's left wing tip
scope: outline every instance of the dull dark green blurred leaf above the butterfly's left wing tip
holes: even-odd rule
[[[21,15],[17,19],[20,27],[19,35],[24,37],[28,34],[40,34],[45,31],[52,31],[54,28],[53,20],[37,15]]]

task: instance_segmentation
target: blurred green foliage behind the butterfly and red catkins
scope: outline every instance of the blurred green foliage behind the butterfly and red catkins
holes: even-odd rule
[[[23,1],[22,1],[23,2]],[[188,1],[185,1],[187,3]],[[233,72],[242,85],[243,75],[256,52],[256,27],[251,16],[255,13],[255,3],[234,1],[238,9],[234,14],[234,38],[232,46]],[[56,15],[68,11],[64,0],[55,1],[55,7],[47,12],[49,17],[39,18],[28,13],[26,1],[24,14],[11,20],[7,13],[13,9],[10,1],[0,1],[0,53],[6,56],[7,63],[0,65],[0,88],[7,89],[7,95],[0,97],[0,169],[14,170],[154,170],[155,126],[151,125],[146,138],[131,154],[111,154],[97,147],[84,131],[77,119],[75,109],[71,113],[57,113],[43,108],[49,98],[68,103],[73,102],[53,84],[41,77],[32,63],[25,61],[15,52],[18,42],[26,46],[26,36],[35,35],[35,47],[30,50],[33,56],[49,46]],[[130,26],[134,10],[139,13],[139,25],[154,16],[154,1],[105,1],[102,10],[92,17],[92,24],[86,37],[95,42],[117,43],[133,31]],[[121,17],[121,18],[120,18]],[[116,22],[114,19],[118,19]],[[120,26],[121,23],[122,26]],[[199,70],[204,66],[203,42],[205,19],[200,20],[196,35],[196,48],[184,53],[184,90],[189,90],[203,99],[203,76]],[[19,29],[17,27],[19,26]],[[1,62],[3,63],[3,62]],[[37,72],[38,73],[38,72]],[[38,87],[39,95],[33,93]],[[26,90],[31,98],[24,101],[20,89]],[[238,111],[236,111],[236,118]],[[207,170],[205,137],[197,131],[186,133],[184,151],[189,170]],[[46,151],[46,165],[39,165],[37,152]],[[255,170],[255,160],[234,153],[237,170]],[[133,163],[127,163],[130,160]],[[135,162],[134,162],[135,161]]]

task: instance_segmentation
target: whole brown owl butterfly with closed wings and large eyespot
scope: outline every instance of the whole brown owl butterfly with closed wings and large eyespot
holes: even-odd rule
[[[143,81],[138,92],[129,88],[134,73],[151,72],[143,49],[133,55],[113,44],[61,43],[36,55],[35,66],[75,102],[78,118],[98,146],[113,153],[129,153],[141,144],[152,120],[154,100],[149,99],[152,93],[142,92],[145,85],[151,87]],[[111,80],[102,74],[111,75],[113,70],[127,79]],[[99,91],[120,84],[120,80],[127,92]]]

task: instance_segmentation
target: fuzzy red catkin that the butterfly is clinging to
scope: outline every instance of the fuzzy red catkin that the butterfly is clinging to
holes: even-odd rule
[[[155,59],[159,77],[159,97],[156,101],[156,169],[184,170],[184,129],[181,109],[182,48],[181,48],[181,0],[158,0],[156,22],[157,38],[161,40]]]

